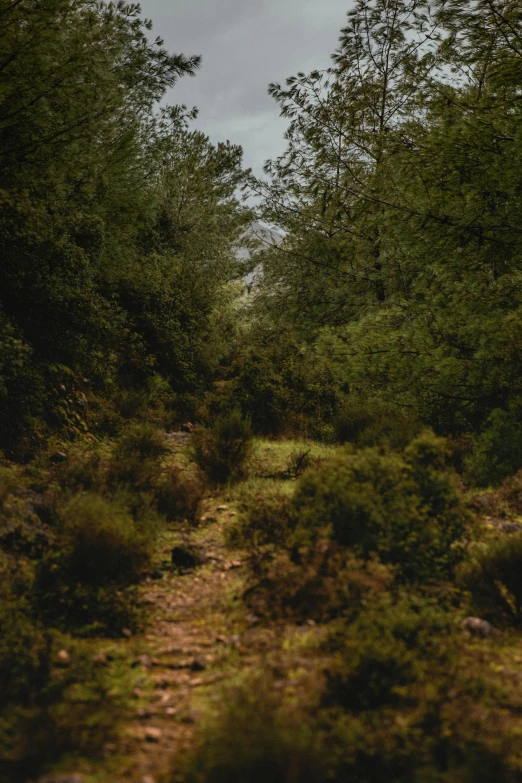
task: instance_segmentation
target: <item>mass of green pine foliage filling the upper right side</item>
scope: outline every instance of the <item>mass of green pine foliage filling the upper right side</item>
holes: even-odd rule
[[[522,464],[521,35],[501,0],[358,0],[331,68],[271,85],[288,146],[251,180],[281,230],[256,312],[350,396],[474,434],[482,485]]]

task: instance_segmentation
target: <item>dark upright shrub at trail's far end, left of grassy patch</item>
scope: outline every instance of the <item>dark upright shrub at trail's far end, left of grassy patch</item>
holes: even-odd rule
[[[235,410],[219,418],[210,429],[194,433],[194,457],[212,481],[221,484],[238,479],[245,475],[252,438],[250,421]]]

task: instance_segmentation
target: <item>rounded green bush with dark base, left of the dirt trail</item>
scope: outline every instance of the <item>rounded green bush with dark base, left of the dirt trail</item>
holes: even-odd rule
[[[149,564],[152,533],[122,498],[73,496],[59,508],[53,549],[37,564],[33,603],[38,616],[84,635],[119,635],[139,622],[132,583]]]

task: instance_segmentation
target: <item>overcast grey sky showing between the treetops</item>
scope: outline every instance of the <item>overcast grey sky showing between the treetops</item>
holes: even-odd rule
[[[241,144],[256,173],[285,146],[287,121],[267,95],[270,82],[326,68],[352,0],[140,0],[174,53],[201,54],[195,79],[181,79],[169,103],[200,110],[212,141]]]

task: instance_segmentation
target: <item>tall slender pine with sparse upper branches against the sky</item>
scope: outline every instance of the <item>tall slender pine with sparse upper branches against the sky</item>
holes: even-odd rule
[[[404,207],[392,161],[411,143],[405,118],[424,111],[435,39],[424,0],[359,0],[330,69],[271,85],[288,148],[253,187],[263,218],[286,232],[264,271],[292,317],[346,323],[402,287],[383,226]]]

